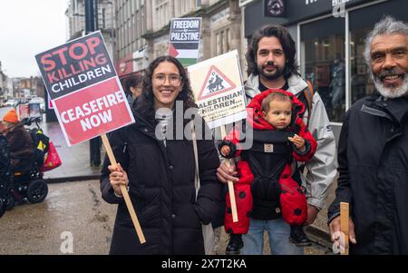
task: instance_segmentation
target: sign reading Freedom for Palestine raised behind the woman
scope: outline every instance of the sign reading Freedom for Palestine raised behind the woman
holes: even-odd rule
[[[201,18],[173,18],[170,23],[169,55],[184,66],[197,63]]]

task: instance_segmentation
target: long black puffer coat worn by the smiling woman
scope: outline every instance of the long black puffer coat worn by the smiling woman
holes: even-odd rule
[[[134,112],[136,123],[113,132],[116,160],[127,171],[129,192],[146,243],[141,245],[124,200],[113,194],[109,161],[102,167],[102,198],[118,203],[111,254],[204,254],[201,222],[219,212],[222,184],[214,141],[198,141],[201,188],[196,201],[192,141],[159,141],[149,122]]]

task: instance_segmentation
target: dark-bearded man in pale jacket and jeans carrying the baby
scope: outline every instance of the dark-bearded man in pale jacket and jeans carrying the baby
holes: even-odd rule
[[[247,62],[248,102],[258,93],[268,89],[283,89],[294,93],[300,101],[306,103],[305,92],[309,87],[298,73],[296,44],[284,27],[267,25],[257,30],[248,47]],[[299,183],[306,181],[308,204],[306,223],[312,224],[318,211],[325,206],[327,190],[335,179],[335,137],[319,94],[313,96],[311,112],[308,111],[308,105],[305,106],[304,121],[317,141],[317,150],[312,160],[306,162],[306,178],[296,168],[293,177]],[[228,180],[237,182],[237,176],[238,172],[234,167],[228,169],[225,163],[219,166],[218,177],[221,182]],[[254,196],[253,210],[263,210],[265,206],[267,205]],[[243,254],[262,254],[264,230],[268,232],[272,254],[303,254],[303,248],[289,242],[290,227],[282,219],[279,208],[275,209],[277,209],[275,215],[267,214],[261,219],[250,218],[248,234],[243,235],[242,240],[240,236],[231,235],[226,254],[228,252],[236,254],[242,245]]]

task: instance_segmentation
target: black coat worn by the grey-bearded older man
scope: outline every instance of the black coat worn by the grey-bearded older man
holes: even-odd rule
[[[408,96],[371,96],[346,113],[329,220],[350,202],[355,254],[408,254]]]

